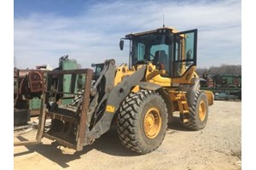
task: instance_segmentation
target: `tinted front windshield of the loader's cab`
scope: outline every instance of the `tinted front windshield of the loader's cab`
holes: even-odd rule
[[[164,69],[169,71],[172,45],[166,44],[165,39],[166,35],[160,33],[134,37],[132,40],[132,65],[151,61],[154,65],[162,64]]]

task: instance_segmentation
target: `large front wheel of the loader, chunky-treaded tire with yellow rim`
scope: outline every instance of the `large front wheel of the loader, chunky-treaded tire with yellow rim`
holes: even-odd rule
[[[166,135],[167,122],[166,103],[160,94],[150,90],[131,93],[125,98],[119,110],[119,139],[126,148],[147,154],[156,150],[162,143]]]

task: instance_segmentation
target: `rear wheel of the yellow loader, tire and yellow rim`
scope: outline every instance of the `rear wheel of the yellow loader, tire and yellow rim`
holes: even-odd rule
[[[181,116],[183,120],[183,117]],[[201,130],[207,125],[208,120],[208,100],[207,95],[197,90],[194,104],[189,105],[189,122],[183,122],[184,127],[191,130]]]

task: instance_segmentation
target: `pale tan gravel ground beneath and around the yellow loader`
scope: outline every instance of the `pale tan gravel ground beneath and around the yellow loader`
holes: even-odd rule
[[[14,141],[33,139],[36,130]],[[15,132],[16,133],[16,132]],[[215,101],[207,126],[189,131],[178,121],[169,124],[158,150],[137,155],[119,142],[116,129],[81,152],[43,139],[43,144],[14,147],[15,169],[241,169],[241,102]]]

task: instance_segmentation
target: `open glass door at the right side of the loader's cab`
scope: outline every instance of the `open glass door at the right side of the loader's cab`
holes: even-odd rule
[[[181,77],[192,65],[196,65],[197,30],[174,34],[174,77]]]

